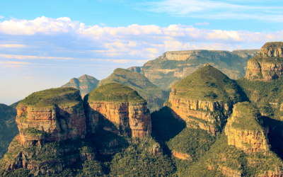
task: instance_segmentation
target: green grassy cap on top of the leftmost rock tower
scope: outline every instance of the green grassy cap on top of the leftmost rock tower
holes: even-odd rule
[[[78,94],[79,90],[71,87],[47,89],[30,94],[30,96],[25,97],[19,104],[40,108],[50,108],[55,105],[72,106],[81,101]]]

